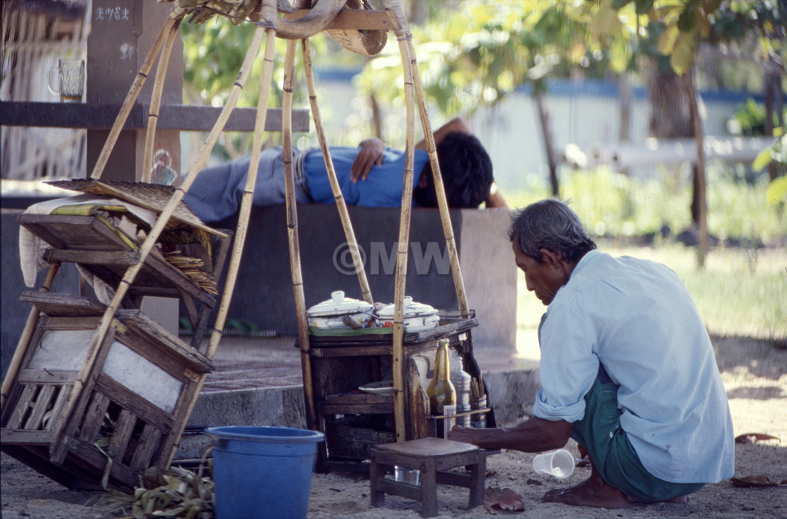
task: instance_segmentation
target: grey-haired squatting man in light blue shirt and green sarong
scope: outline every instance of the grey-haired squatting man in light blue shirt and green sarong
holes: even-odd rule
[[[527,290],[547,306],[538,327],[541,390],[512,427],[456,426],[449,439],[540,452],[569,437],[587,480],[542,501],[625,508],[686,502],[733,475],[730,408],[704,325],[684,284],[652,261],[597,250],[554,199],[514,215],[509,231]]]

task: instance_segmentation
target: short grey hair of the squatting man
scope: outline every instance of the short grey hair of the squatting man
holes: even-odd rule
[[[508,239],[538,263],[543,261],[541,249],[563,254],[563,260],[571,263],[596,248],[577,214],[554,198],[514,213]]]

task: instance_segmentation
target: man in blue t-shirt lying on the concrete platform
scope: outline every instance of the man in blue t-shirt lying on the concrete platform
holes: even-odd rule
[[[464,120],[456,118],[434,132],[438,162],[449,207],[507,207],[493,184],[492,161]],[[434,178],[426,141],[416,144],[413,199],[418,206],[437,207]],[[357,147],[331,147],[331,159],[345,202],[356,206],[401,206],[405,152],[386,148],[380,139],[365,139]],[[293,149],[295,196],[301,203],[334,203],[323,154],[319,149]],[[230,217],[241,204],[250,157],[228,161],[199,172],[183,201],[202,221]],[[253,205],[285,202],[282,149],[263,150],[257,170]]]

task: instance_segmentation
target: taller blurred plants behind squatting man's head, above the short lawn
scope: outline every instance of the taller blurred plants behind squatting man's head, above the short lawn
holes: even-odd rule
[[[708,230],[719,238],[773,243],[787,234],[787,201],[767,199],[766,174],[745,176],[737,169],[711,164],[708,177]],[[560,170],[560,198],[593,236],[658,235],[663,226],[673,234],[691,225],[690,179],[682,169],[660,169],[656,179],[639,179],[599,167]],[[521,191],[504,191],[513,207],[551,196],[541,176],[527,176]]]

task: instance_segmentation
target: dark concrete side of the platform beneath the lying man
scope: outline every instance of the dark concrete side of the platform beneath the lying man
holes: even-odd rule
[[[365,253],[371,294],[375,302],[392,302],[399,209],[348,209],[362,254]],[[513,350],[516,268],[506,236],[509,218],[507,209],[451,211],[467,300],[480,321],[473,332],[474,341],[478,346],[489,344]],[[235,225],[235,221],[224,221],[214,227],[235,229]],[[307,308],[330,298],[335,290],[360,298],[357,276],[345,262],[349,261],[349,254],[336,207],[299,206],[298,235]],[[441,310],[457,309],[437,209],[413,209],[410,243],[407,295]],[[284,206],[253,208],[228,319],[246,319],[263,329],[297,334]]]

